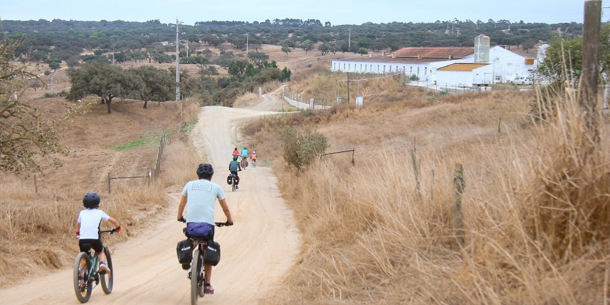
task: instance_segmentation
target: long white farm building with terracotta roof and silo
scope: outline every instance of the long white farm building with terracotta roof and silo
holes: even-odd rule
[[[477,65],[456,65],[470,63]],[[451,68],[445,68],[451,66]],[[448,86],[477,87],[510,82],[529,75],[534,59],[526,59],[501,46],[489,48],[489,37],[475,38],[475,48],[403,48],[382,56],[332,60],[331,71],[353,73],[404,73],[420,81]]]

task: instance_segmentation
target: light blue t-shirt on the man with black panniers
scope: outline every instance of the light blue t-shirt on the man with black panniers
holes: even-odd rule
[[[214,224],[214,204],[224,199],[220,185],[205,179],[189,181],[182,195],[187,196],[187,223]]]

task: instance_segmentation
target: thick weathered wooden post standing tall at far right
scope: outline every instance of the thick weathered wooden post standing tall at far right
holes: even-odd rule
[[[581,71],[581,85],[579,87],[579,104],[585,112],[585,122],[589,131],[593,133],[595,142],[600,141],[598,131],[597,113],[597,86],[600,74],[600,28],[601,28],[601,1],[584,2],[583,24],[583,71]]]

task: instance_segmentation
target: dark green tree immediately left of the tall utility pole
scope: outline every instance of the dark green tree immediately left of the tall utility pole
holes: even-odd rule
[[[159,102],[171,99],[171,84],[173,79],[167,70],[155,68],[154,66],[140,66],[137,69],[129,71],[142,80],[140,87],[135,93],[144,101],[145,109],[148,101],[152,99],[157,99]]]

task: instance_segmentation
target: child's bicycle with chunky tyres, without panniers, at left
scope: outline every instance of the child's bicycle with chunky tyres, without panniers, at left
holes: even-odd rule
[[[116,229],[112,228],[107,231],[99,231],[101,233],[115,234]],[[100,237],[101,239],[101,237]],[[84,244],[87,246],[88,244]],[[104,245],[104,254],[106,254],[106,266],[110,270],[109,272],[98,272],[99,270],[99,259],[98,254],[95,251],[91,251],[91,245],[88,245],[88,252],[81,252],[76,255],[74,260],[74,293],[76,298],[81,303],[87,303],[91,297],[93,289],[102,283],[102,290],[104,293],[109,295],[112,292],[112,285],[114,283],[114,270],[112,268],[112,257],[110,257],[110,249]],[[91,255],[93,252],[93,255]],[[93,286],[95,282],[95,286]]]

